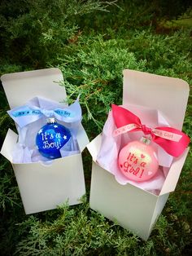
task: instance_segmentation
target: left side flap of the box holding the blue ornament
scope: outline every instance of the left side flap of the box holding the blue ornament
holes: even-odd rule
[[[12,154],[10,148],[15,146],[17,142],[18,135],[11,129],[7,131],[6,138],[2,144],[1,154],[2,156],[6,157],[9,161],[12,162]]]

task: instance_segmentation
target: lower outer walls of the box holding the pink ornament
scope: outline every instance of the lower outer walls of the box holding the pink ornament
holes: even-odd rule
[[[93,162],[89,204],[105,217],[147,240],[168,194],[155,196],[133,185],[120,185]]]

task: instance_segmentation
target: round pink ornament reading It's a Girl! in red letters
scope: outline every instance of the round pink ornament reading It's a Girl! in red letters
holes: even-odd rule
[[[128,143],[119,153],[119,167],[122,174],[133,181],[146,181],[157,172],[159,164],[150,139]]]

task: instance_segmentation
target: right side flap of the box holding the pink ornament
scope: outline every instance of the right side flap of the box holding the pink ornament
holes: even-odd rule
[[[168,175],[164,181],[163,188],[161,189],[159,195],[164,195],[175,190],[179,176],[181,174],[182,166],[185,163],[185,158],[189,152],[189,149],[190,148],[186,148],[185,152],[172,162],[172,166],[168,171]]]

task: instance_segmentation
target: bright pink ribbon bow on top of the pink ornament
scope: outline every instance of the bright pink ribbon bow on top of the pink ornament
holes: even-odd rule
[[[151,135],[152,140],[159,144],[164,151],[179,157],[190,143],[190,138],[181,130],[172,127],[155,127],[153,129],[142,125],[139,117],[131,113],[129,110],[112,104],[112,114],[117,129],[113,135],[117,136],[128,131],[142,130],[145,135]]]

